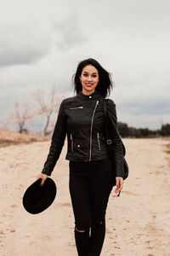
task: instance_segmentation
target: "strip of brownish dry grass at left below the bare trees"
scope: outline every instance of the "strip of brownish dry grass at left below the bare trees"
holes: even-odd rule
[[[21,143],[34,143],[48,141],[49,137],[36,137],[28,134],[20,134],[14,131],[0,130],[0,148]]]

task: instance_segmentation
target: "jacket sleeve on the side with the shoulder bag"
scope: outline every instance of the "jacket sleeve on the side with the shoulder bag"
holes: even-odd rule
[[[114,167],[116,172],[116,177],[124,177],[124,154],[122,139],[119,135],[117,117],[116,117],[116,104],[111,99],[107,102],[107,111],[111,119],[111,138],[113,141],[113,159],[115,161]]]

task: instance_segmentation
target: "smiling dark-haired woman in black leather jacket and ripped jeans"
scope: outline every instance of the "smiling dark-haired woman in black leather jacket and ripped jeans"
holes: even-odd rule
[[[37,179],[42,178],[42,185],[51,175],[67,134],[65,159],[69,160],[77,252],[79,256],[98,256],[105,240],[105,211],[112,189],[113,171],[103,123],[103,102],[111,92],[112,81],[110,73],[94,59],[81,61],[72,79],[77,96],[60,104],[48,158]],[[117,125],[116,105],[111,99],[107,108]],[[120,139],[114,140],[118,193],[123,184],[123,151]]]

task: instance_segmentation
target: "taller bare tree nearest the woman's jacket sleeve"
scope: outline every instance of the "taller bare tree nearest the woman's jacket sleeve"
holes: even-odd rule
[[[51,115],[55,111],[58,111],[59,104],[65,95],[64,91],[57,91],[55,86],[53,86],[48,91],[49,92],[47,93],[38,88],[36,91],[31,92],[31,95],[34,97],[38,104],[37,113],[46,117],[46,123],[43,128],[44,136],[48,135],[48,125]]]

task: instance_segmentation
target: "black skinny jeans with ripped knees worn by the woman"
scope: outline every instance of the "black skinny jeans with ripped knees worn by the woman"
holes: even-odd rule
[[[70,160],[69,167],[78,255],[99,256],[105,240],[105,212],[112,189],[111,160]]]

